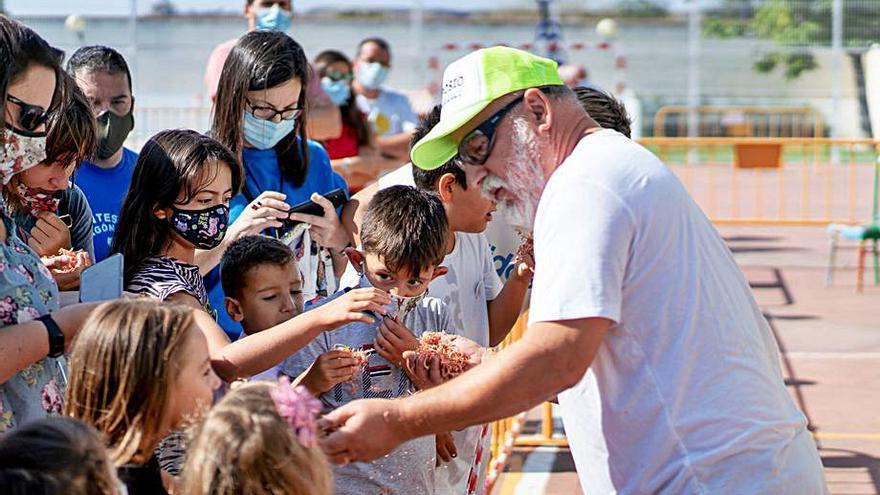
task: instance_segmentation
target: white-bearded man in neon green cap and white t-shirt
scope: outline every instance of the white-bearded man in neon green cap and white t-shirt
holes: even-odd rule
[[[826,493],[773,335],[675,175],[598,127],[550,60],[478,50],[443,82],[440,123],[413,163],[457,153],[511,218],[534,226],[530,326],[455,380],[328,415],[331,459],[374,458],[559,393],[586,493]]]

